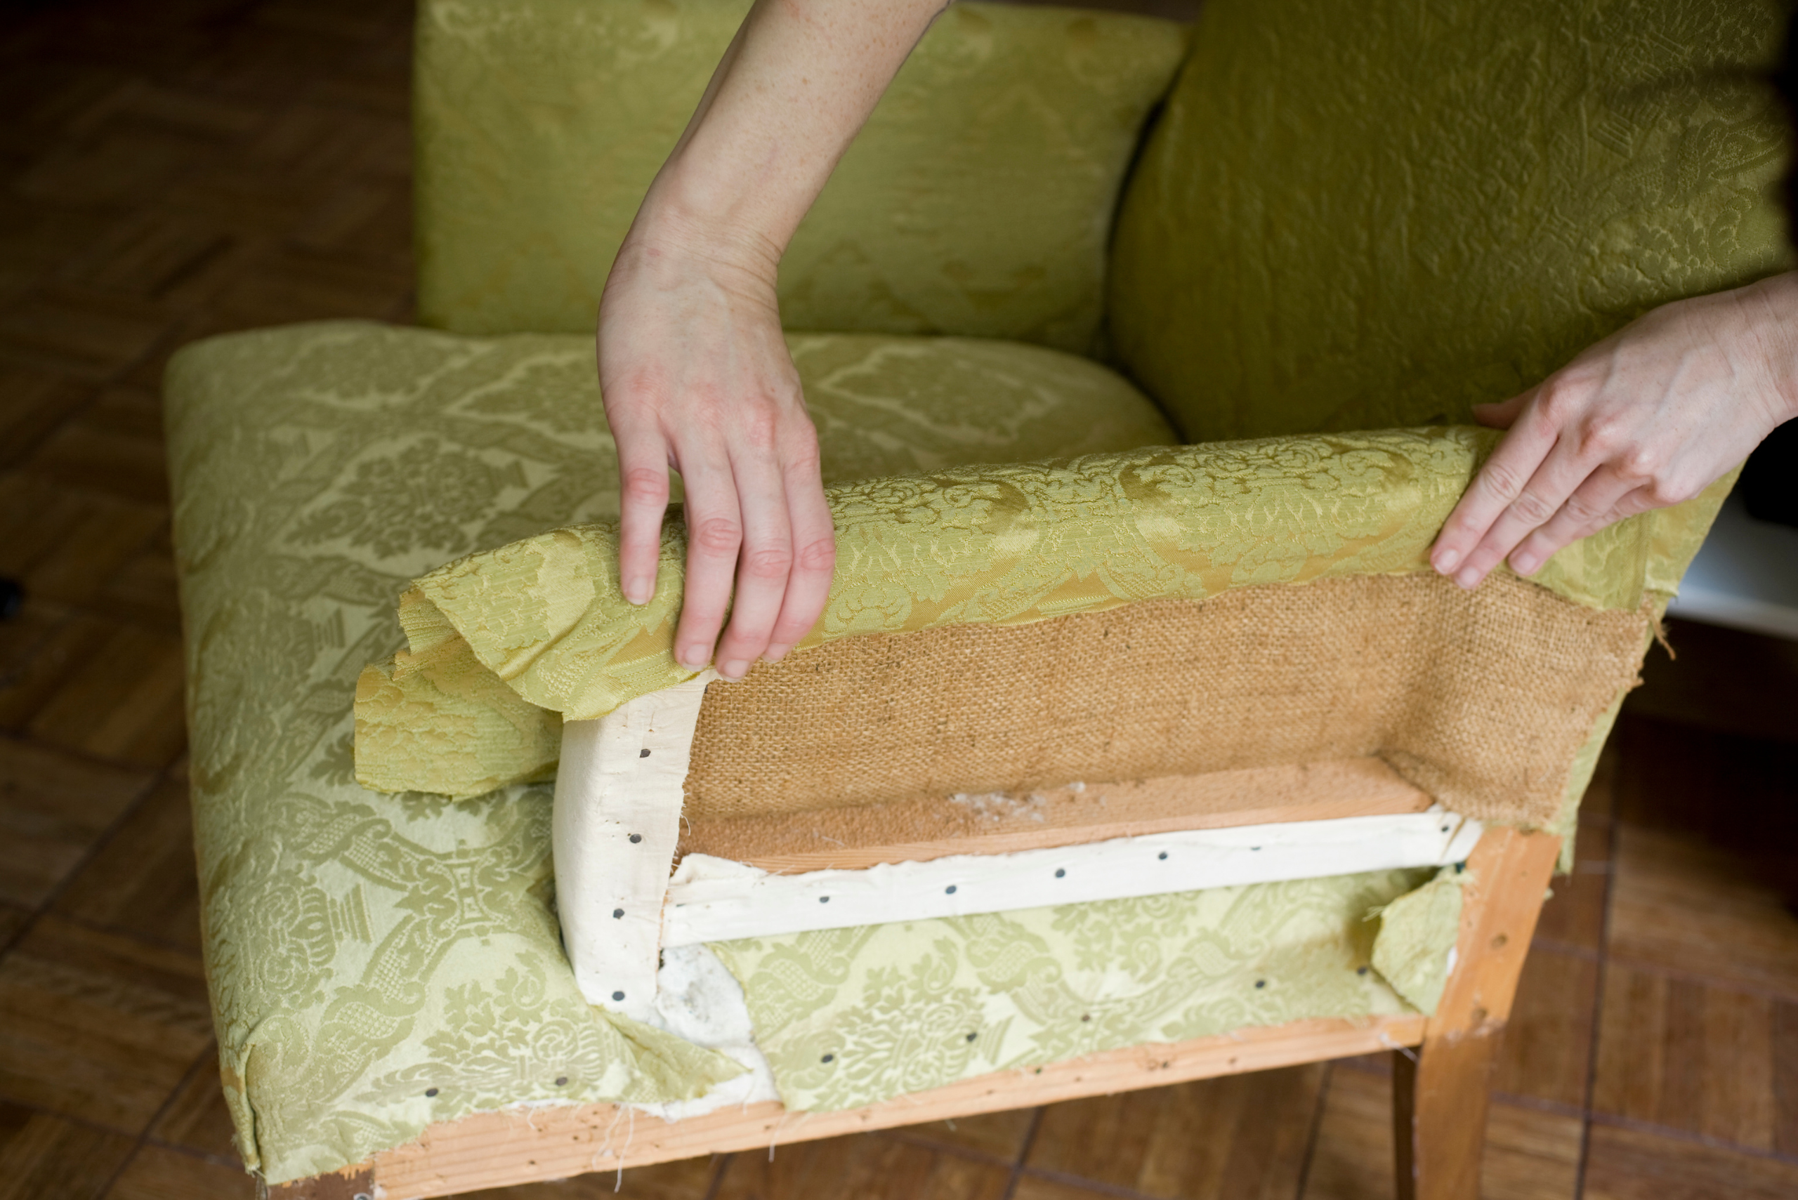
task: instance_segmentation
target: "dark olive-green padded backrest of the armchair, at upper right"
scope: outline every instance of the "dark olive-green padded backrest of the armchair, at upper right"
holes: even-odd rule
[[[1194,442],[1465,422],[1791,268],[1789,7],[1206,0],[1120,207],[1118,356]]]

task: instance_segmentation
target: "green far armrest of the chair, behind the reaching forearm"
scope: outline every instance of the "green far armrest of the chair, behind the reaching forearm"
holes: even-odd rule
[[[457,332],[592,332],[644,190],[746,0],[428,0],[419,9],[419,313]],[[1106,239],[1172,22],[949,7],[780,262],[788,329],[1086,352]]]

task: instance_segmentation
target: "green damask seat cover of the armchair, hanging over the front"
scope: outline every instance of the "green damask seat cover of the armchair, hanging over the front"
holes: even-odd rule
[[[791,347],[832,478],[1170,437],[1052,350]],[[482,1108],[734,1076],[581,997],[548,789],[455,803],[352,778],[354,681],[403,643],[406,582],[617,512],[592,340],[293,325],[182,350],[165,399],[207,972],[246,1162],[280,1182]]]

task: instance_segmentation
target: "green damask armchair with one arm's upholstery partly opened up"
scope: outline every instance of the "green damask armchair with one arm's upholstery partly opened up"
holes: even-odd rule
[[[1404,1047],[1401,1191],[1473,1195],[1730,481],[1532,580],[1424,551],[1473,402],[1787,266],[1775,18],[949,9],[782,266],[840,568],[726,684],[678,521],[617,591],[588,340],[743,9],[426,0],[426,329],[171,363],[246,1164],[451,1195]]]

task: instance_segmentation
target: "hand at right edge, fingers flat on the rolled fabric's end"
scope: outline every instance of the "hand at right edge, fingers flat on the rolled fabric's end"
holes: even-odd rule
[[[1798,417],[1798,273],[1663,305],[1474,419],[1510,429],[1429,562],[1476,587],[1613,521],[1678,505]]]

